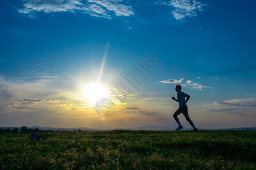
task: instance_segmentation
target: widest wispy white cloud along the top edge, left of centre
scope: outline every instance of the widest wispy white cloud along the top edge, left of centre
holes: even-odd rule
[[[23,8],[18,9],[23,14],[34,12],[75,12],[80,11],[92,16],[112,18],[115,16],[134,15],[133,8],[123,5],[122,1],[81,1],[81,0],[26,0]]]

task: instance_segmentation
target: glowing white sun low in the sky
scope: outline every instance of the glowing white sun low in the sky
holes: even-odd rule
[[[103,84],[90,83],[84,86],[83,95],[91,105],[96,105],[98,100],[108,96],[108,91]]]

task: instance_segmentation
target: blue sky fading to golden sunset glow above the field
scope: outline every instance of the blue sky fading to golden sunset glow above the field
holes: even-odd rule
[[[0,126],[176,126],[176,84],[198,128],[256,126],[255,1],[0,3]],[[150,74],[147,52],[160,62]],[[146,76],[137,88],[125,79],[134,66]],[[119,80],[133,91],[125,99],[111,91]],[[86,95],[97,82],[110,117]]]

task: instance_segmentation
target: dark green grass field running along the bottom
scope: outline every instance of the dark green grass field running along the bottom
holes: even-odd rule
[[[0,135],[0,169],[256,169],[256,131]]]

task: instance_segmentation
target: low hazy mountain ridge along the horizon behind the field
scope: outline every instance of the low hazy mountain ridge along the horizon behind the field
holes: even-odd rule
[[[21,127],[0,127],[2,129],[14,129],[18,128],[20,129]],[[83,130],[83,131],[100,131],[100,130],[115,130],[115,129],[123,129],[123,130],[175,130],[177,126],[141,126],[141,127],[135,127],[135,128],[112,128],[112,129],[91,129],[91,128],[52,128],[52,127],[41,127],[41,126],[27,126],[27,129],[40,129],[40,130],[53,130],[53,131],[73,131],[73,130]],[[182,130],[192,130],[192,128],[184,128]],[[226,128],[226,129],[199,129],[199,130],[249,130],[249,131],[254,131],[256,130],[256,127],[251,127],[251,128]]]

